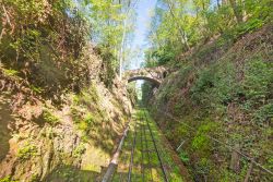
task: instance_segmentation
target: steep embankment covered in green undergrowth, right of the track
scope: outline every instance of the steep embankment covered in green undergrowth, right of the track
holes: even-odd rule
[[[193,52],[191,62],[163,83],[152,111],[176,147],[185,142],[178,153],[194,179],[244,181],[250,161],[239,155],[236,167],[229,147],[272,170],[272,26],[217,49],[225,52],[211,57],[210,47]],[[206,57],[212,60],[204,62]],[[270,181],[270,175],[254,166],[249,178]]]

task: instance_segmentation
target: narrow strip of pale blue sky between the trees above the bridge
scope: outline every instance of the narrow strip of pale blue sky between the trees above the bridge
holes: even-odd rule
[[[134,40],[132,43],[132,49],[141,48],[140,57],[135,59],[130,70],[139,69],[144,61],[144,49],[146,45],[146,35],[149,33],[149,25],[152,20],[151,12],[154,10],[156,0],[139,0],[136,8],[136,26],[134,32]]]

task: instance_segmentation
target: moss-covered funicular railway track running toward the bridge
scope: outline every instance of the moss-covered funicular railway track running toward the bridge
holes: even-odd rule
[[[141,109],[130,124],[119,167],[109,181],[182,182],[178,167],[164,145],[161,133]]]

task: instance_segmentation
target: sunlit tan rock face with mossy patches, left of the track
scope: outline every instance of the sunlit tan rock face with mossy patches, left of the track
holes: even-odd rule
[[[131,113],[126,86],[97,78],[54,105],[0,68],[0,179],[82,181],[99,178]]]

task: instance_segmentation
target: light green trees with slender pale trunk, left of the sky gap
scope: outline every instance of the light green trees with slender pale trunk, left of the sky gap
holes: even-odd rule
[[[127,41],[131,38],[136,0],[88,0],[93,41],[103,53],[111,54],[110,64],[121,76]],[[109,58],[109,57],[107,57]]]

